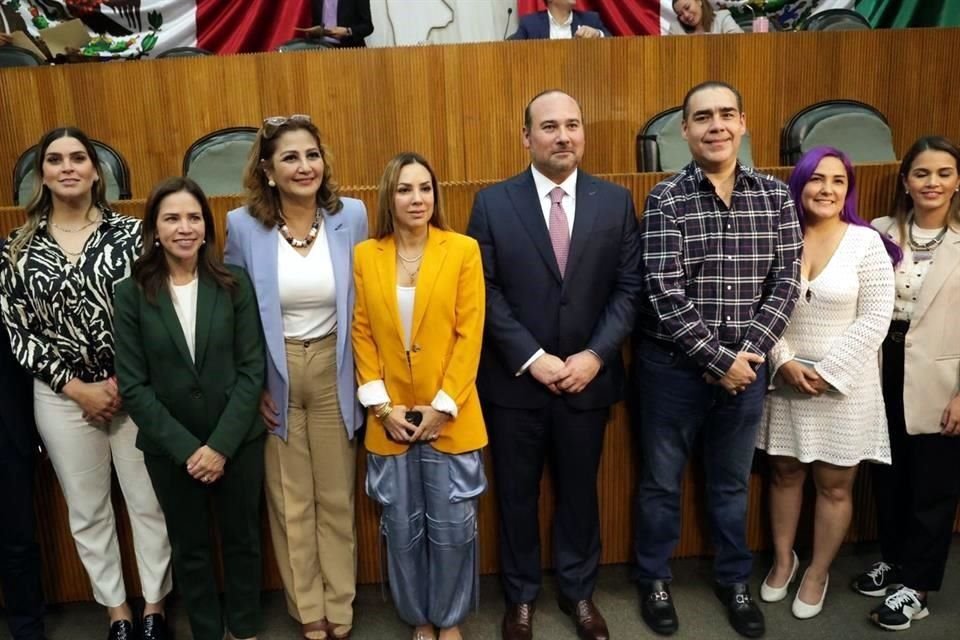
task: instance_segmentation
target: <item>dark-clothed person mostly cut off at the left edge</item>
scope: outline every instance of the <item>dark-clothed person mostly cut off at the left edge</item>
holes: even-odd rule
[[[0,240],[0,251],[3,249]],[[0,587],[13,640],[42,640],[43,589],[34,532],[33,471],[37,432],[32,382],[0,329]]]

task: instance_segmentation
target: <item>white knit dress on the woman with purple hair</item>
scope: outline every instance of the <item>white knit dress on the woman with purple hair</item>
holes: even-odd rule
[[[774,380],[757,448],[801,462],[890,462],[879,350],[893,298],[883,241],[873,229],[850,225],[823,271],[801,280],[790,324],[769,356],[771,376],[802,357],[816,362],[816,372],[837,392],[813,397]]]

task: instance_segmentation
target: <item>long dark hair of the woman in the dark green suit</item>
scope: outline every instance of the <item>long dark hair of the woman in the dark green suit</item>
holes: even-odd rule
[[[133,263],[133,279],[143,290],[147,300],[155,303],[157,295],[168,286],[170,268],[167,265],[167,255],[157,240],[157,218],[160,216],[160,206],[163,200],[175,193],[189,193],[200,203],[200,212],[203,215],[203,239],[200,251],[197,254],[197,274],[212,279],[218,287],[233,293],[237,289],[236,278],[223,266],[220,256],[216,255],[217,230],[213,221],[213,212],[210,203],[196,182],[190,178],[167,178],[157,184],[143,213],[143,255]]]

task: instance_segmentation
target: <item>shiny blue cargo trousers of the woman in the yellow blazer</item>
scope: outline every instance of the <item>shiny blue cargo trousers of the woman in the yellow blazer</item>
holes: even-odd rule
[[[383,506],[387,572],[407,624],[459,625],[477,581],[477,502],[483,456],[415,444],[396,456],[367,454],[367,495]]]

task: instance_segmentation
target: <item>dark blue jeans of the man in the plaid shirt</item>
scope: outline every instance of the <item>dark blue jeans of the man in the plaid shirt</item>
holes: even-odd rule
[[[671,579],[669,558],[680,539],[680,484],[690,451],[703,444],[714,578],[747,582],[747,491],[763,409],[766,371],[735,396],[703,379],[679,350],[643,340],[635,351],[635,432],[640,469],[634,498],[635,577]]]

